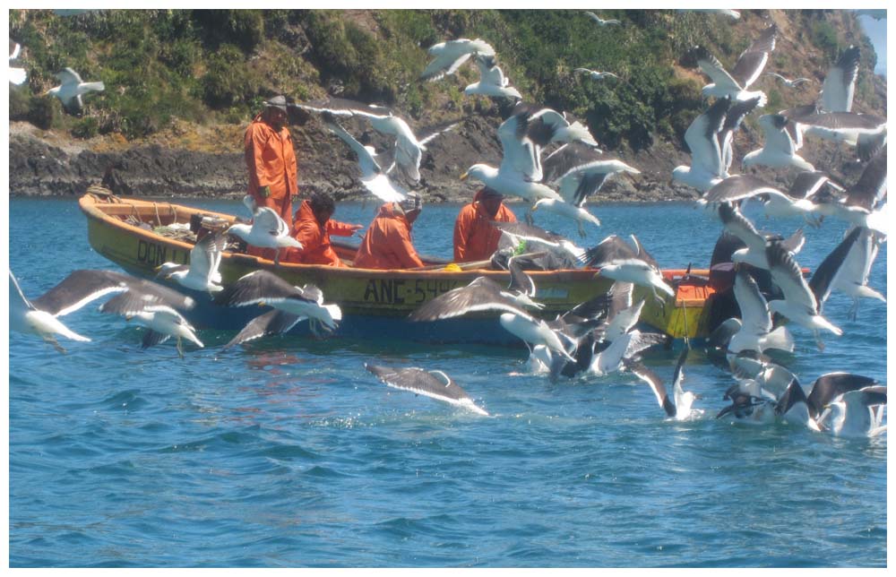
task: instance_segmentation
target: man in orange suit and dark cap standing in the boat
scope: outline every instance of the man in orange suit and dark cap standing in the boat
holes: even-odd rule
[[[298,168],[287,124],[286,98],[275,96],[246,128],[245,156],[249,170],[248,194],[259,207],[267,206],[292,227],[292,197],[298,194]],[[274,250],[250,246],[248,254],[272,258]]]

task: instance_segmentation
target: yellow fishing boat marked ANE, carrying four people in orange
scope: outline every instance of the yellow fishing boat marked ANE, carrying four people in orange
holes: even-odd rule
[[[202,223],[213,222],[226,228],[237,217],[220,212],[192,208],[164,201],[118,197],[99,186],[91,187],[79,205],[87,217],[90,246],[125,271],[143,278],[154,278],[161,263],[189,263],[195,233]],[[434,323],[412,323],[408,315],[428,300],[486,276],[508,284],[507,271],[471,268],[444,260],[424,259],[418,269],[377,271],[353,268],[357,246],[333,244],[347,267],[280,263],[235,251],[221,257],[221,284],[227,286],[249,272],[264,269],[274,272],[290,284],[314,284],[323,290],[328,303],[342,309],[343,319],[335,335],[363,338],[418,340],[421,342],[513,343],[519,342],[504,331],[497,314],[470,314]],[[485,266],[480,263],[479,266]],[[605,294],[612,280],[602,278],[594,269],[530,271],[538,287],[536,300],[544,308],[535,314],[554,319],[573,306]],[[713,289],[705,270],[665,270],[663,276],[677,287],[676,297],[654,298],[649,291],[635,288],[634,298],[644,298],[642,322],[670,339],[700,338],[710,330]],[[197,328],[237,331],[263,310],[248,306],[217,306],[207,293],[190,291],[197,305],[189,318]],[[299,323],[294,332],[306,331]]]

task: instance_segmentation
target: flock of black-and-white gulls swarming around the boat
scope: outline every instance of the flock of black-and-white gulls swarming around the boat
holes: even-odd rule
[[[735,11],[707,12],[739,19]],[[612,33],[623,25],[595,13],[584,15],[595,22],[595,33]],[[735,134],[745,117],[768,103],[765,93],[756,90],[756,83],[763,76],[771,76],[772,82],[788,88],[812,82],[808,78],[788,80],[778,73],[763,74],[779,35],[775,24],[764,28],[730,71],[707,49],[694,47],[694,61],[711,81],[702,93],[712,101],[685,133],[690,165],[675,168],[671,175],[673,180],[700,191],[697,206],[703,207],[710,221],[721,224],[711,274],[728,275],[737,301],[737,315],[721,323],[707,342],[711,354],[724,358],[733,381],[720,395],[729,404],[718,411],[717,418],[754,423],[785,421],[833,435],[885,434],[885,385],[862,375],[831,373],[804,386],[797,375],[775,360],[780,354],[768,355],[769,351],[795,354],[792,331],[811,332],[819,349],[824,347],[823,335],[842,335],[838,319],[823,314],[823,305],[833,292],[853,300],[850,319],[856,318],[862,298],[886,302],[881,292],[868,287],[868,279],[889,228],[886,119],[851,111],[859,72],[857,47],[849,47],[830,66],[814,103],[758,118],[763,146],[745,153],[740,167],[764,166],[792,174],[788,190],[746,172],[731,174],[736,166]],[[19,57],[20,50],[18,44],[10,43],[11,61]],[[426,323],[492,311],[504,330],[526,343],[530,352],[527,366],[532,373],[554,381],[631,374],[650,386],[667,418],[700,418],[705,409],[698,405],[704,400],[683,387],[691,343],[685,342],[668,387],[642,362],[642,352],[665,342],[665,337],[639,330],[645,301],[634,302],[633,288],[646,288],[660,306],[666,306],[674,302],[676,282],[664,277],[659,263],[634,235],[610,235],[598,245],[581,248],[533,223],[534,211],[554,211],[575,221],[584,237],[585,226],[600,226],[599,219],[585,208],[587,199],[616,173],[637,175],[639,170],[600,151],[581,121],[524,102],[498,67],[495,49],[485,40],[447,40],[428,52],[433,60],[421,73],[422,82],[445,81],[472,61],[478,67],[479,82],[467,86],[465,94],[506,99],[513,104],[510,115],[497,129],[503,150],[500,165],[474,164],[461,179],[478,180],[501,194],[521,198],[531,208],[526,222],[494,223],[501,232],[501,242],[491,263],[495,269],[510,271],[509,286],[501,286],[491,275],[480,276],[467,286],[427,301],[410,314],[408,321]],[[24,82],[24,71],[16,70],[10,68],[11,82]],[[614,73],[584,67],[574,72],[592,79],[618,78]],[[82,82],[70,68],[58,78],[62,85],[47,93],[61,99],[69,110],[82,108],[86,92],[104,89],[102,82]],[[434,127],[418,137],[407,121],[376,104],[328,98],[290,106],[320,116],[329,132],[357,157],[362,184],[384,202],[401,201],[409,186],[420,185],[419,168],[426,143],[460,124]],[[390,139],[392,146],[377,152],[362,145],[340,125],[340,118],[369,123],[375,132]],[[857,161],[864,165],[856,182],[837,183],[797,154],[806,138],[854,148]],[[544,151],[550,153],[542,159]],[[155,280],[116,271],[79,270],[41,297],[29,299],[10,271],[11,330],[38,335],[65,352],[56,336],[82,342],[90,338],[68,329],[60,317],[114,295],[99,306],[101,313],[118,314],[144,325],[143,348],[175,337],[178,354],[183,357],[184,340],[203,346],[184,316],[195,301],[175,289],[183,287],[207,293],[218,306],[271,307],[248,323],[225,349],[288,332],[306,320],[316,336],[332,334],[342,317],[340,307],[325,304],[323,291],[314,285],[295,287],[270,271],[254,271],[228,286],[221,285],[218,268],[228,236],[248,245],[277,249],[275,263],[279,263],[280,248],[301,246],[289,237],[289,227],[275,212],[255,206],[251,197],[244,202],[252,213],[251,224],[237,219],[226,230],[209,232],[197,240],[189,265],[164,263]],[[849,229],[806,280],[803,267],[797,263],[805,242],[802,230],[789,237],[760,232],[742,210],[748,202],[761,203],[771,219],[799,216],[814,228],[823,227],[825,219],[843,220]],[[612,280],[607,294],[575,306],[554,320],[539,318],[538,310],[543,305],[538,303],[538,289],[526,271],[578,267],[593,269],[596,278]],[[488,414],[441,370],[372,364],[366,369],[393,388]]]

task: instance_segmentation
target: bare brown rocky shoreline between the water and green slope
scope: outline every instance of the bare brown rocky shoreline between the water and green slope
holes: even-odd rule
[[[497,118],[468,118],[428,144],[418,187],[427,202],[467,202],[472,197],[478,183],[462,182],[459,177],[477,162],[494,166],[500,163],[501,147],[495,137],[499,122]],[[169,131],[151,142],[128,143],[110,137],[80,141],[25,123],[12,123],[10,194],[79,196],[88,186],[102,184],[119,195],[241,198],[247,183],[241,148],[245,126],[176,128],[174,136]],[[347,128],[378,150],[388,145],[378,141],[378,136],[364,125]],[[322,125],[312,120],[290,130],[296,142],[301,195],[323,191],[338,201],[360,200],[369,195],[358,180],[353,153]],[[761,134],[748,129],[741,131],[736,139],[737,151],[742,154],[758,148],[761,138]],[[216,146],[197,146],[197,140]],[[684,201],[699,197],[695,189],[671,180],[672,169],[690,160],[672,142],[658,140],[637,153],[608,153],[640,169],[642,174],[616,175],[591,203]],[[841,182],[850,184],[857,178],[859,167],[854,153],[839,151],[827,142],[807,143],[804,153],[816,167],[826,168]],[[772,170],[754,170],[754,174],[785,188],[793,176],[788,171]]]

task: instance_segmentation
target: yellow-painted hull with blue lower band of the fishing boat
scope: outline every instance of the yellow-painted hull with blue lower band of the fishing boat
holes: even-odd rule
[[[193,248],[188,242],[162,236],[152,228],[168,227],[175,222],[188,223],[194,214],[217,217],[228,223],[232,223],[235,219],[232,215],[170,202],[117,198],[104,194],[85,194],[79,204],[87,217],[90,245],[125,271],[144,278],[154,277],[156,267],[161,263],[189,263],[190,250]],[[344,249],[338,250],[344,251]],[[340,256],[350,260],[352,254],[343,252]],[[358,326],[364,324],[361,323],[362,320],[374,327],[375,331],[383,331],[390,327],[389,323],[384,322],[392,321],[401,322],[392,327],[395,330],[387,335],[393,338],[408,335],[410,338],[418,338],[423,332],[430,340],[455,338],[466,341],[508,340],[507,333],[496,323],[496,314],[470,315],[469,318],[458,319],[457,321],[470,322],[461,322],[457,331],[450,331],[457,332],[451,338],[445,337],[443,333],[446,332],[446,326],[458,324],[456,321],[454,323],[406,321],[407,316],[418,306],[452,288],[465,286],[479,276],[487,276],[498,283],[507,284],[510,281],[507,271],[484,269],[446,271],[442,268],[425,271],[375,271],[297,263],[280,263],[279,267],[275,267],[270,260],[226,252],[222,255],[220,263],[222,284],[226,286],[259,269],[275,272],[296,286],[310,283],[320,287],[327,302],[336,303],[342,309],[343,323],[340,332],[347,328],[347,324],[348,328],[355,324]],[[670,279],[675,278],[676,272],[681,271],[664,271]],[[605,294],[612,285],[612,280],[596,276],[596,271],[590,269],[532,271],[530,275],[538,287],[536,300],[544,305],[544,309],[538,314],[547,319],[556,318],[557,314],[563,314],[573,306]],[[197,297],[200,305],[208,305],[197,306],[197,309],[205,309],[205,314],[201,314],[202,320],[196,321],[200,326],[204,321],[206,326],[237,330],[242,328],[252,315],[258,314],[257,309],[250,312],[213,306],[208,295],[194,295],[194,297]],[[692,299],[684,302],[668,298],[664,305],[660,306],[649,292],[640,288],[636,289],[635,297],[646,299],[642,320],[654,329],[665,332],[673,338],[705,335],[706,327],[702,322],[705,300]],[[203,303],[203,300],[207,302]],[[415,324],[434,324],[435,327],[427,329],[414,327]],[[466,329],[463,328],[464,324],[467,325]],[[484,328],[483,330],[495,334],[471,333],[471,327],[475,330]]]

